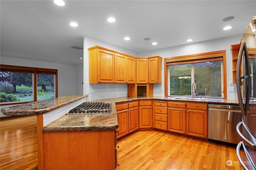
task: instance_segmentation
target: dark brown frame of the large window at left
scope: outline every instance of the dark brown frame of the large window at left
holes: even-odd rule
[[[55,83],[54,83],[54,96],[58,97],[58,70],[50,68],[36,68],[36,67],[26,67],[26,66],[12,66],[0,64],[0,71],[10,71],[10,72],[27,72],[33,74],[33,100],[28,102],[11,102],[11,103],[0,103],[0,106],[5,105],[14,105],[14,104],[26,104],[31,102],[36,102],[37,100],[37,74],[54,74]]]

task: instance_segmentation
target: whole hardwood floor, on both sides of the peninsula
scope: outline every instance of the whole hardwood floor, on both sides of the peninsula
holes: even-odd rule
[[[36,170],[36,116],[0,121],[0,169]],[[137,131],[118,140],[117,170],[241,169],[235,147],[161,131]],[[104,168],[103,168],[104,169]]]

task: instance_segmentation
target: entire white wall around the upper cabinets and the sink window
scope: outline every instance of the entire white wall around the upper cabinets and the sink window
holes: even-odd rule
[[[154,84],[154,96],[164,96],[164,58],[176,57],[182,55],[192,55],[198,53],[206,53],[212,51],[226,50],[226,68],[227,68],[227,98],[237,99],[236,91],[228,92],[229,82],[232,82],[232,51],[230,45],[237,44],[242,38],[241,35],[232,37],[225,37],[221,39],[214,39],[199,43],[189,43],[188,45],[181,45],[170,47],[166,49],[146,51],[143,53],[135,53],[127,49],[116,47],[108,43],[93,39],[91,37],[84,37],[84,94],[89,94],[88,100],[96,100],[103,98],[115,98],[127,96],[126,84],[89,84],[88,83],[88,48],[99,45],[114,51],[119,51],[133,56],[150,57],[159,55],[163,57],[162,60],[162,84]],[[236,84],[234,84],[236,86]],[[235,87],[236,88],[236,87]],[[94,89],[96,93],[91,93]]]

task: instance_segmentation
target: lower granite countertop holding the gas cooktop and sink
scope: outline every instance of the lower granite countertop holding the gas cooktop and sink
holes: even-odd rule
[[[102,100],[91,100],[87,102],[110,102],[111,114],[81,114],[63,115],[44,126],[42,131],[87,131],[87,130],[114,130],[118,128],[118,117],[116,114],[116,104],[134,100],[172,100],[180,102],[203,102],[214,104],[238,104],[237,100],[225,100],[208,98],[207,100],[185,100],[184,98],[174,99],[174,97],[122,97]]]

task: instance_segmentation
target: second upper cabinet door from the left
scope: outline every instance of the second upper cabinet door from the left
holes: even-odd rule
[[[115,82],[126,83],[126,57],[124,55],[115,55]]]

